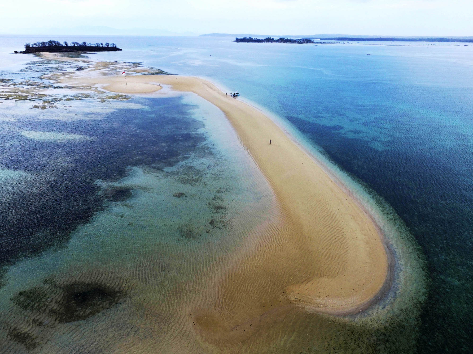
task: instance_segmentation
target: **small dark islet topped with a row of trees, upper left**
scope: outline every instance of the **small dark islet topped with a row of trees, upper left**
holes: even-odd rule
[[[59,42],[47,41],[26,43],[21,53],[61,52],[61,51],[121,51],[115,43]],[[15,51],[18,53],[18,51]]]

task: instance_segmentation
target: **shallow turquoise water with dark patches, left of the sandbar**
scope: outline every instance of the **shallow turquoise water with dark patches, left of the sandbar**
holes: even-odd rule
[[[184,316],[174,307],[206,290],[212,267],[272,213],[271,190],[216,107],[38,77],[80,67],[3,72],[0,353],[110,352],[126,346],[117,336],[148,344],[162,334],[156,313],[168,325]]]

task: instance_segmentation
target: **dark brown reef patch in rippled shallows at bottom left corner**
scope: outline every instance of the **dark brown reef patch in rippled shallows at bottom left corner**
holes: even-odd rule
[[[40,286],[19,291],[10,298],[13,308],[0,318],[0,351],[35,349],[64,325],[88,320],[126,301],[125,287],[123,279],[92,272],[46,278]]]

